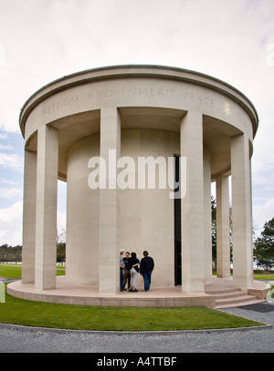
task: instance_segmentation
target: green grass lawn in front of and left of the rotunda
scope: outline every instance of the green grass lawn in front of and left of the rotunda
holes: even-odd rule
[[[57,271],[65,274],[65,271]],[[21,266],[0,265],[0,276],[20,278]],[[5,294],[0,304],[5,324],[74,330],[171,331],[261,325],[206,307],[136,308],[38,303]]]

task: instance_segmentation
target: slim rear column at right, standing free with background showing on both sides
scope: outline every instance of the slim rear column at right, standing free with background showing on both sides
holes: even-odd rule
[[[216,179],[216,258],[217,276],[230,276],[228,177]]]

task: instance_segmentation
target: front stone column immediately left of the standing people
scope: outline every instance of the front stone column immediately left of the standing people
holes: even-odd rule
[[[100,110],[100,157],[107,163],[107,188],[100,189],[100,294],[117,294],[120,287],[120,203],[116,176],[116,164],[120,155],[121,122],[119,112],[117,108],[103,108]]]

